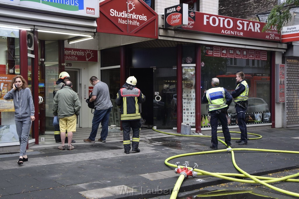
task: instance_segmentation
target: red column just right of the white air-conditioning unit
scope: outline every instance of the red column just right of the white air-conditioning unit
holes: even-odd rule
[[[38,33],[37,30],[34,30],[33,33],[33,49],[34,49],[34,58],[33,58],[33,76],[32,76],[32,91],[33,91],[33,104],[34,104],[34,117],[33,122],[33,138],[35,139],[35,144],[39,144],[39,70],[38,70]]]

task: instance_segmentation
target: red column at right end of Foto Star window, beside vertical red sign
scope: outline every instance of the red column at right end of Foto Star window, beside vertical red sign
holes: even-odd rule
[[[275,128],[275,51],[271,52],[271,121]]]

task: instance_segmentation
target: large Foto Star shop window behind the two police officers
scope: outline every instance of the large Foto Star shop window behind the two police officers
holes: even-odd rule
[[[209,46],[209,49],[213,47]],[[217,48],[217,47],[215,47]],[[271,122],[271,100],[270,100],[270,74],[271,74],[271,53],[262,51],[263,59],[226,58],[214,57],[205,54],[206,47],[202,46],[201,61],[204,67],[201,70],[201,94],[210,89],[211,79],[219,78],[219,86],[224,87],[228,92],[236,88],[236,73],[243,71],[245,81],[249,87],[248,109],[246,111],[246,122],[248,124]],[[202,127],[209,126],[208,104],[202,104]],[[228,109],[229,125],[237,125],[236,110],[234,102]]]

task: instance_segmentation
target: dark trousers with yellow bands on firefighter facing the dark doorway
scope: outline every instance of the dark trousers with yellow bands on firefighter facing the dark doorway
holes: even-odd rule
[[[133,131],[132,148],[137,149],[139,146],[139,134],[141,128],[141,120],[121,121],[123,126],[123,147],[125,151],[131,150],[130,132]]]

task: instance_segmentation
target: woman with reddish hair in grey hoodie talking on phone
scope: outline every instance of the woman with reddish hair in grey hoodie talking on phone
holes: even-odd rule
[[[14,77],[8,88],[10,91],[3,98],[6,100],[13,99],[16,129],[20,141],[20,157],[17,163],[23,164],[23,162],[28,161],[26,146],[32,121],[35,120],[32,94],[27,81],[21,75]]]

